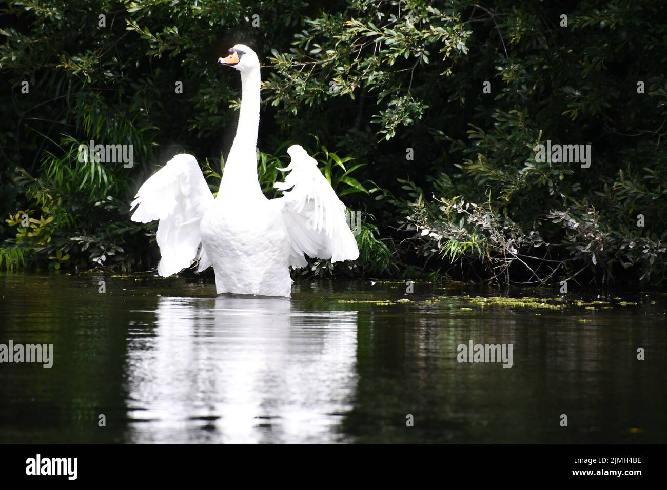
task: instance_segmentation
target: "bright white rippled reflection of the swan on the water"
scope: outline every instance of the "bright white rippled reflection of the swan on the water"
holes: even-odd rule
[[[357,312],[289,299],[160,297],[129,332],[127,439],[336,441],[356,387]]]

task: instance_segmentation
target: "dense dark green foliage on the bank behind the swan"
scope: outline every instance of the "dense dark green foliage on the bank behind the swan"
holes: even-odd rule
[[[660,2],[25,0],[0,9],[5,267],[155,267],[145,236],[155,225],[129,221],[127,205],[182,150],[217,189],[240,84],[215,60],[245,43],[265,63],[262,186],[272,192],[287,143],[300,143],[350,210],[365,213],[360,260],[315,261],[309,273],[664,279]],[[79,162],[89,140],[133,144],[135,165]],[[590,145],[590,166],[536,158],[547,141]]]

